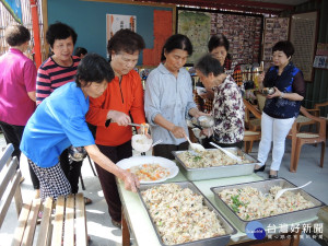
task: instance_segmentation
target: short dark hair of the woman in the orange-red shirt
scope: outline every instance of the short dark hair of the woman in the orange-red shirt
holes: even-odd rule
[[[140,52],[144,47],[144,40],[138,33],[131,30],[120,30],[108,40],[107,51],[109,56],[112,51],[116,54],[124,51],[132,55],[136,51]]]

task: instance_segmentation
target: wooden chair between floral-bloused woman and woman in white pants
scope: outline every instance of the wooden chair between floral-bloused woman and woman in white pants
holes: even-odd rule
[[[248,101],[244,99],[245,105],[245,125],[249,122],[250,113],[256,117],[256,119],[261,119],[261,113]],[[261,138],[261,132],[256,128],[245,129],[244,131],[244,149],[246,153],[251,152],[254,141],[259,141]]]

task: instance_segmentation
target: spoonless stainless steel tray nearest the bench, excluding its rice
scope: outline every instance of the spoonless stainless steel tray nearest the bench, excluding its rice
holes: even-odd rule
[[[149,188],[152,188],[154,186],[160,186],[163,185],[164,183],[157,183],[157,184],[153,184],[153,185],[140,185],[140,188],[138,190],[139,197],[142,201],[142,204],[144,206],[148,215],[152,222],[152,225],[156,232],[156,235],[159,237],[159,241],[161,243],[161,245],[167,245],[164,244],[156,225],[154,224],[154,221],[149,212],[149,209],[147,208],[144,200],[141,196],[141,191],[147,190]],[[168,183],[165,183],[168,184]],[[206,239],[199,239],[199,241],[192,241],[189,243],[184,243],[184,244],[176,244],[177,246],[218,246],[218,245],[227,245],[230,237],[232,234],[236,234],[237,231],[235,227],[233,227],[223,216],[222,214],[216,210],[216,208],[203,196],[203,194],[194,185],[194,183],[191,181],[177,181],[177,183],[171,183],[171,184],[176,184],[178,186],[180,186],[181,188],[189,188],[191,189],[195,194],[198,194],[200,196],[203,197],[203,202],[204,204],[209,208],[210,211],[214,211],[214,213],[216,214],[216,218],[220,220],[220,222],[222,223],[223,227],[225,229],[226,234],[223,236],[215,236],[215,237],[211,237],[211,238],[206,238]]]

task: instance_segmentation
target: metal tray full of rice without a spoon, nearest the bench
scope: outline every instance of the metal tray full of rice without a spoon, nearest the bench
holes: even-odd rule
[[[138,192],[161,245],[226,245],[236,233],[190,181],[141,185]]]

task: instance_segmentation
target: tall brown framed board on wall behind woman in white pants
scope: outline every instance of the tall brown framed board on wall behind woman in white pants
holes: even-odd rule
[[[304,80],[307,82],[312,81],[313,78],[316,35],[317,12],[292,15],[290,40],[295,47],[292,61],[302,70]]]

